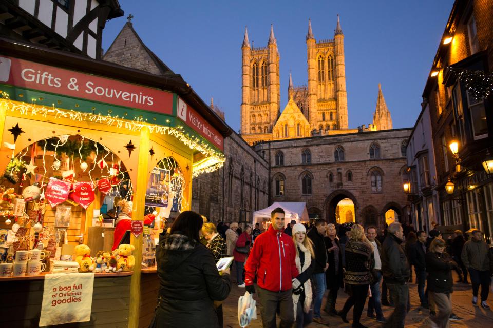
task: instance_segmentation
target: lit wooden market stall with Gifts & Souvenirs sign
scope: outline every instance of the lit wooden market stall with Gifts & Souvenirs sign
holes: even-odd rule
[[[223,165],[229,128],[179,75],[1,38],[0,90],[0,234],[12,229],[16,238],[2,244],[0,236],[2,261],[11,260],[13,249],[37,246],[62,260],[79,244],[93,245],[91,256],[111,251],[114,228],[102,227],[99,215],[119,199],[131,201],[135,266],[95,274],[91,320],[66,326],[146,326],[159,279],[155,268],[141,272],[142,253],[149,251],[143,235],[151,233],[139,227],[155,209],[166,219],[190,208],[192,177]],[[25,235],[13,232],[14,223]],[[32,326],[47,273],[0,277],[0,297],[20,296],[0,316]]]

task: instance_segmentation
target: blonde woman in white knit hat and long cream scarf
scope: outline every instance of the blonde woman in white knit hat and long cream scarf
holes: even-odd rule
[[[296,248],[296,268],[299,275],[293,279],[293,304],[295,327],[302,328],[312,322],[312,283],[310,276],[315,269],[315,253],[307,229],[301,223],[293,226],[293,242]]]

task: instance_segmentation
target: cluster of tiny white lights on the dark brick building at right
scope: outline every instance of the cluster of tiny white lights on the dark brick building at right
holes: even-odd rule
[[[466,85],[467,90],[476,100],[486,99],[493,92],[493,73],[485,74],[481,70],[458,68],[450,68],[450,72]]]

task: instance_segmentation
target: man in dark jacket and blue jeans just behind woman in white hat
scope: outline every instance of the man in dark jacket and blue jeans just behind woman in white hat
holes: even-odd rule
[[[315,286],[313,291],[313,321],[320,324],[325,324],[320,314],[320,307],[327,289],[325,271],[329,267],[324,241],[326,227],[327,222],[324,219],[317,219],[315,227],[307,234],[308,238],[313,242],[313,251],[315,252],[315,270],[313,270],[312,274],[312,282]]]

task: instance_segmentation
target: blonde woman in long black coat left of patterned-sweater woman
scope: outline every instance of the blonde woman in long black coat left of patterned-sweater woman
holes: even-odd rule
[[[327,249],[327,257],[329,263],[329,269],[325,272],[327,289],[327,304],[325,306],[325,312],[331,316],[338,315],[335,310],[335,303],[337,301],[337,292],[339,288],[344,288],[344,275],[343,275],[343,257],[340,249],[339,239],[336,237],[335,226],[332,223],[327,224],[327,237],[324,237],[325,248]]]

